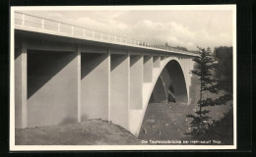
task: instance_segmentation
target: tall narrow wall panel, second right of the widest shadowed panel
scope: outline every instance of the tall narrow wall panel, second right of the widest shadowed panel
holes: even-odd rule
[[[129,59],[111,54],[110,118],[114,124],[129,129]]]

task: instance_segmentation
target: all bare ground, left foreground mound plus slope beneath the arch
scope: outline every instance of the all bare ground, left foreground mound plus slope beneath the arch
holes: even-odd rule
[[[213,107],[210,116],[220,120],[231,104]],[[194,106],[181,103],[151,103],[148,106],[139,138],[130,131],[100,119],[51,127],[16,129],[17,145],[130,145],[141,140],[189,140],[187,114]],[[228,125],[228,124],[227,124]],[[225,124],[218,130],[224,131]]]

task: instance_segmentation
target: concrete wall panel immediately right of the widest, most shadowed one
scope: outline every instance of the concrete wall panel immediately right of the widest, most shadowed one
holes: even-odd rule
[[[98,118],[108,120],[108,57],[107,53],[82,53],[82,121]]]

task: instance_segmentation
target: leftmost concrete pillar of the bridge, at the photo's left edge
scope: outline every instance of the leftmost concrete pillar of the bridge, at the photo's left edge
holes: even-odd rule
[[[18,42],[18,41],[17,41]],[[27,128],[27,42],[15,47],[15,128]]]

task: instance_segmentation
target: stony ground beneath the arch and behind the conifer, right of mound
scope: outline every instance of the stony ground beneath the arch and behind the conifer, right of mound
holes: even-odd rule
[[[145,114],[139,138],[144,140],[190,140],[192,136],[186,134],[191,131],[186,115],[193,114],[197,108],[183,103],[150,103]],[[231,109],[231,103],[222,106],[209,107],[209,116],[213,120],[221,120]],[[224,124],[225,125],[225,124]],[[220,130],[224,125],[219,125]],[[226,125],[225,125],[226,126]],[[232,129],[231,129],[232,130]],[[208,139],[217,139],[210,137]]]

